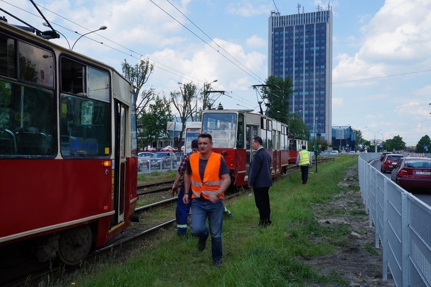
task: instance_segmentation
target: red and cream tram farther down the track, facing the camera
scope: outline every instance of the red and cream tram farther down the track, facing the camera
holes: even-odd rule
[[[286,173],[289,163],[295,163],[301,145],[306,140],[288,137],[287,125],[268,116],[243,110],[204,110],[202,133],[212,136],[212,150],[221,153],[228,165],[235,186],[247,184],[251,157],[251,140],[260,136],[271,154],[272,177]]]

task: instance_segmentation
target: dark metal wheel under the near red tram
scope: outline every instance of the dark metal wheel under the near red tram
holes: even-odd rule
[[[89,254],[93,234],[88,225],[66,230],[60,235],[58,258],[65,265],[76,265]]]

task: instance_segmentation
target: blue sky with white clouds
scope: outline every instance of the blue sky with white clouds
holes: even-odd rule
[[[257,106],[258,96],[250,87],[268,77],[271,11],[298,13],[298,3],[300,12],[328,6],[308,0],[35,2],[70,46],[79,37],[74,31],[108,27],[79,39],[74,51],[119,71],[124,59],[134,64],[140,56],[149,58],[155,69],[144,88],[160,95],[179,90],[179,81],[193,81],[200,88],[204,81],[218,79],[212,87],[227,92],[217,100],[225,108]],[[369,140],[400,135],[408,145],[431,136],[431,2],[338,0],[330,5],[332,124],[362,130]],[[0,0],[0,7],[45,29],[28,0]],[[68,47],[63,37],[53,41]]]

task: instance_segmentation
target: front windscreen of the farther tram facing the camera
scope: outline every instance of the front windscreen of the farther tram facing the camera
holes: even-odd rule
[[[203,133],[212,136],[212,147],[234,148],[236,141],[236,113],[204,113]]]

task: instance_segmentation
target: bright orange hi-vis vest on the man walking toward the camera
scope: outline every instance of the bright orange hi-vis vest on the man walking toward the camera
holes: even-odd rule
[[[204,199],[208,199],[208,194],[217,192],[223,182],[220,177],[220,162],[222,160],[222,155],[211,152],[208,162],[206,163],[205,172],[203,173],[203,181],[200,179],[199,174],[199,156],[200,152],[196,152],[190,154],[189,157],[190,168],[192,169],[192,198],[199,198],[202,196]],[[224,193],[219,195],[219,199],[224,197]]]

